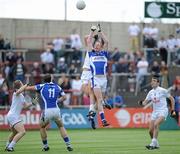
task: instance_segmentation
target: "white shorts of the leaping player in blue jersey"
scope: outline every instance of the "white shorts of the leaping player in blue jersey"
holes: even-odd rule
[[[106,92],[107,78],[94,76],[91,80],[92,88],[100,88],[102,92]]]

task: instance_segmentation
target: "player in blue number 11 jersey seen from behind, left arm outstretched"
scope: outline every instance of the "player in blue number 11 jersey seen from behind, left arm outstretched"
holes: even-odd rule
[[[60,115],[58,103],[62,103],[66,99],[64,91],[59,85],[53,83],[53,76],[48,74],[44,77],[44,84],[37,84],[35,86],[28,86],[25,90],[38,91],[42,97],[44,109],[40,119],[40,134],[43,143],[43,151],[48,151],[49,146],[47,142],[46,127],[50,120],[53,120],[60,130],[60,134],[66,143],[67,150],[73,151],[70,144],[70,139],[67,135],[66,129]]]

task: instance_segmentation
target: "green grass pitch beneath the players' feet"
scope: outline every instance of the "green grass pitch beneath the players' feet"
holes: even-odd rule
[[[0,154],[4,152],[4,145],[8,131],[0,131]],[[147,150],[145,145],[150,143],[147,129],[79,129],[68,130],[74,151],[72,154],[180,154],[180,132],[160,131],[160,149]],[[63,140],[58,130],[48,131],[50,151],[47,154],[66,154]],[[39,154],[42,145],[39,131],[27,131],[18,142],[14,154]]]

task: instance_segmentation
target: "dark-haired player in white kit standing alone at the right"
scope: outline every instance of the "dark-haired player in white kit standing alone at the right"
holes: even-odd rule
[[[151,79],[152,90],[149,91],[144,101],[140,101],[141,105],[147,105],[150,101],[153,103],[153,112],[151,115],[151,121],[149,125],[149,135],[152,139],[151,143],[146,146],[147,149],[158,149],[158,132],[160,124],[166,119],[168,115],[168,106],[166,98],[170,100],[171,115],[175,116],[174,111],[174,98],[168,93],[168,91],[162,87],[159,87],[159,77],[153,76]]]

